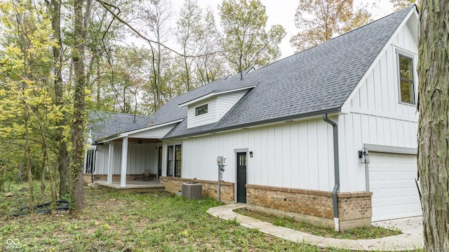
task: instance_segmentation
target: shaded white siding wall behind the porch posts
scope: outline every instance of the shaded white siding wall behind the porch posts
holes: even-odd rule
[[[95,162],[94,174],[107,174],[109,166],[109,144],[114,145],[112,174],[120,174],[121,142],[109,142],[104,146],[97,146],[97,160]],[[158,162],[156,148],[156,144],[128,143],[126,174],[143,174],[146,170],[149,170],[152,174],[156,174]]]

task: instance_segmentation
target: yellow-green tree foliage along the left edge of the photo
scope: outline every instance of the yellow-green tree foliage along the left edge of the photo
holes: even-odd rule
[[[42,166],[43,127],[48,147],[56,149],[52,136],[65,109],[53,102],[52,48],[58,43],[52,34],[51,20],[41,2],[2,1],[0,3],[0,162],[8,176],[17,176],[26,163],[24,158],[25,120],[29,125],[29,161],[32,174],[40,174]],[[24,118],[25,114],[29,117]],[[39,123],[40,122],[40,123]],[[55,159],[55,151],[51,153]],[[25,174],[25,167],[23,169]],[[4,177],[5,178],[5,177]]]

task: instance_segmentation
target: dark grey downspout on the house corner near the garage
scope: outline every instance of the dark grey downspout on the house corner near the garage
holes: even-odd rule
[[[338,161],[338,127],[337,123],[335,123],[333,120],[329,120],[328,114],[323,114],[323,120],[332,125],[333,127],[333,137],[334,137],[334,180],[335,185],[332,190],[332,202],[333,202],[333,209],[334,209],[334,225],[335,225],[335,231],[340,231],[340,221],[338,217],[338,201],[337,201],[337,191],[340,188],[340,165]]]

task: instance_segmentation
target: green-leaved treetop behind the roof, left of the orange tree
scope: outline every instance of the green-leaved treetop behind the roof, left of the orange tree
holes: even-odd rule
[[[219,9],[225,32],[222,48],[235,72],[264,66],[279,58],[279,43],[286,31],[281,25],[265,31],[267,14],[259,0],[224,0]]]

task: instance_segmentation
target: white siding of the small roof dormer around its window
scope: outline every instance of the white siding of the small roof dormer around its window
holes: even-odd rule
[[[227,111],[229,111],[236,102],[239,102],[239,99],[241,99],[246,92],[248,92],[248,90],[227,92],[190,104],[187,109],[187,128],[216,123],[225,116]],[[208,104],[208,113],[195,116],[195,109],[206,104]]]

